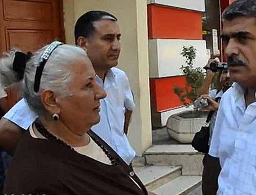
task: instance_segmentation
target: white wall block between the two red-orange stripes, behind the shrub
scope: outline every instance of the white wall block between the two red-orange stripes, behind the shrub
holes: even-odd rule
[[[197,49],[194,67],[205,66],[209,59],[205,40],[152,39],[148,45],[151,78],[182,75],[180,67],[185,65],[185,58],[180,53],[183,46]]]

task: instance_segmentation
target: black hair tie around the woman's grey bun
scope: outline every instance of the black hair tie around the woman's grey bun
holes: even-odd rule
[[[31,58],[31,56],[31,52],[28,52],[27,54],[22,52],[15,52],[12,69],[14,72],[17,73],[19,80],[23,79],[26,69],[26,63]]]

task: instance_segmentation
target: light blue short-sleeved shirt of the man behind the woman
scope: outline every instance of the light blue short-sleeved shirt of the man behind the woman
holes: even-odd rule
[[[128,78],[120,69],[112,68],[106,74],[104,83],[99,77],[96,80],[104,88],[107,96],[101,100],[100,122],[93,126],[92,130],[127,164],[130,164],[136,154],[124,134],[124,113],[125,109],[132,111],[135,104]],[[15,104],[4,116],[24,129],[28,129],[36,117],[24,99]]]

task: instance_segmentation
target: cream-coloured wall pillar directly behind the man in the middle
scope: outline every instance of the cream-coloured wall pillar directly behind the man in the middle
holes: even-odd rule
[[[73,42],[71,28],[74,28],[74,25],[72,24],[83,13],[90,10],[107,11],[118,18],[122,34],[118,68],[126,72],[136,103],[128,137],[137,155],[140,156],[152,144],[146,2],[141,0],[65,0],[64,12],[69,16],[69,18],[65,17],[68,43]],[[73,16],[70,12],[74,13]]]

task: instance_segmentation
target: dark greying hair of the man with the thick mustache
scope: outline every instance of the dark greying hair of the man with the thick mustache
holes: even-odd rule
[[[222,13],[223,20],[232,20],[237,17],[256,18],[256,0],[237,0],[230,4]]]

